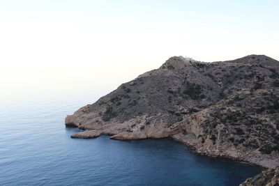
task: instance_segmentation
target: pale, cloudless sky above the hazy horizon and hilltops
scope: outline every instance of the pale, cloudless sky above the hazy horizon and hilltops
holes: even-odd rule
[[[0,0],[0,71],[151,70],[171,56],[279,60],[279,1]]]

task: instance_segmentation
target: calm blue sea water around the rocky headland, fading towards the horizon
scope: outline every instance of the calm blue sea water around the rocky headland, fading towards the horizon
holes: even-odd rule
[[[239,185],[262,171],[171,139],[71,139],[65,116],[134,75],[92,73],[2,75],[0,185]]]

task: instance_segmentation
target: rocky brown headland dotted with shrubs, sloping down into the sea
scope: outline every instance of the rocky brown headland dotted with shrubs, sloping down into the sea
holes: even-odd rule
[[[264,55],[205,63],[174,56],[66,117],[112,139],[172,137],[197,153],[279,165],[279,62]]]

